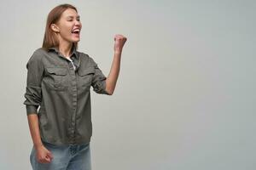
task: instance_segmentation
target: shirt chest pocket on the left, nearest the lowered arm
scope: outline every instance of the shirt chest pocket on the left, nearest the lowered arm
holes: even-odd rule
[[[49,79],[49,88],[54,90],[65,90],[67,89],[67,68],[66,67],[46,67]]]

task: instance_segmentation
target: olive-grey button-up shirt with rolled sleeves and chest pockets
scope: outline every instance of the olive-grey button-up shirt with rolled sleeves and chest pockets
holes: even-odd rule
[[[51,144],[89,143],[90,86],[97,94],[110,95],[107,77],[94,59],[72,51],[67,59],[57,48],[38,48],[26,64],[26,115],[38,115],[41,139]]]

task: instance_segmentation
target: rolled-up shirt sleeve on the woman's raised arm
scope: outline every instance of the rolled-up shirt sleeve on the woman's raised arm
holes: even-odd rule
[[[90,58],[91,59],[91,58]],[[94,65],[95,68],[95,74],[92,78],[92,87],[93,90],[97,93],[97,94],[108,94],[108,92],[106,91],[106,80],[107,77],[105,77],[105,75],[103,74],[102,70],[98,67],[98,65],[96,64],[96,62],[92,60],[92,63]]]

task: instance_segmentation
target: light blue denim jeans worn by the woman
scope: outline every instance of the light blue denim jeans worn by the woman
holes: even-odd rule
[[[49,150],[53,159],[49,163],[37,161],[34,146],[30,154],[30,162],[33,170],[90,170],[90,143],[55,145],[42,141],[44,147]]]

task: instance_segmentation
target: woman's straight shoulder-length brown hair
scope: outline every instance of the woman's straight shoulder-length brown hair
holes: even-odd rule
[[[50,29],[51,24],[57,23],[61,19],[61,14],[67,9],[67,8],[73,8],[76,12],[78,12],[77,8],[75,8],[73,5],[68,3],[63,3],[55,8],[53,8],[47,17],[46,26],[45,26],[45,32],[44,32],[44,42],[43,42],[43,48],[49,49],[52,47],[58,48],[60,42],[56,36],[55,31]],[[78,42],[73,42],[73,48],[78,48]]]

